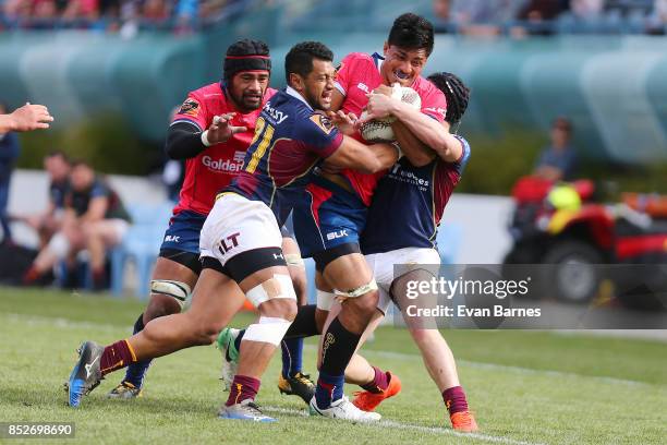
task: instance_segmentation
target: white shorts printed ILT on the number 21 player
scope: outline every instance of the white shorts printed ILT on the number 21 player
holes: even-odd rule
[[[214,257],[222,266],[240,253],[281,245],[282,234],[271,209],[237,193],[216,200],[199,236],[201,256]]]

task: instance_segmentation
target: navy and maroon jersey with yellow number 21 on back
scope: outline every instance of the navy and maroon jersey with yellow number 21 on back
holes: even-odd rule
[[[310,173],[343,136],[323,113],[288,87],[266,103],[241,172],[225,191],[268,205],[279,225],[303,199]]]

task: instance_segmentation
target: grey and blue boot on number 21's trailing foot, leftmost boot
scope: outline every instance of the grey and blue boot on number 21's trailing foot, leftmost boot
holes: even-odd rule
[[[78,349],[78,360],[68,381],[68,405],[81,405],[81,398],[90,393],[102,381],[99,360],[105,348],[95,341],[86,341]]]

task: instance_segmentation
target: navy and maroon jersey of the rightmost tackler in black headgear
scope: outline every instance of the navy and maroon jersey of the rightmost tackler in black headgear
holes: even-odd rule
[[[380,179],[362,233],[365,254],[436,246],[445,206],[470,159],[468,141],[457,137],[463,145],[458,161],[436,158],[424,167],[415,167],[403,156]]]

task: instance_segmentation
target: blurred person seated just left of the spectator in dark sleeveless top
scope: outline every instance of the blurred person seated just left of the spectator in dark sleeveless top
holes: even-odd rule
[[[49,203],[44,213],[17,219],[37,231],[39,249],[44,249],[53,233],[60,230],[64,213],[64,199],[70,189],[70,160],[62,152],[51,152],[44,158],[44,169],[49,175]]]

